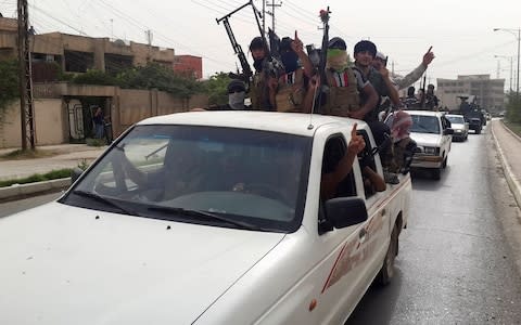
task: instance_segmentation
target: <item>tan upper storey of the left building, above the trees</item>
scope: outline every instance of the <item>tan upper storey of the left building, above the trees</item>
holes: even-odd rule
[[[17,21],[0,17],[0,60],[17,57],[16,43]],[[49,63],[58,64],[65,73],[86,73],[88,69],[110,73],[156,62],[173,70],[192,70],[196,76],[203,74],[201,57],[177,57],[174,49],[120,39],[49,32],[31,35],[29,47],[34,81],[49,81]],[[187,56],[190,60],[187,61]]]

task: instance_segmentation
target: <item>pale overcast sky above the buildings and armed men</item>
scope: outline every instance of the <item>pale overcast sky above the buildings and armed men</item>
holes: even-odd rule
[[[262,0],[253,2],[262,10]],[[517,70],[517,35],[493,28],[521,27],[519,0],[281,2],[281,6],[275,8],[276,31],[280,37],[293,36],[296,29],[304,43],[320,44],[318,12],[329,5],[330,37],[343,37],[351,55],[357,41],[372,40],[379,51],[389,55],[390,63],[394,62],[398,74],[415,68],[430,46],[436,55],[428,72],[431,82],[435,78],[471,74],[496,78],[499,60],[499,76],[508,87],[510,61],[494,55],[513,55],[513,70]],[[244,3],[246,0],[29,0],[29,20],[39,34],[61,31],[143,43],[145,30],[150,29],[154,46],[173,48],[176,54],[202,56],[203,76],[208,77],[234,70],[239,64],[225,27],[217,25],[216,18]],[[5,17],[15,17],[16,0],[0,0],[0,12]],[[230,24],[250,58],[247,44],[258,35],[252,9],[242,9],[230,18]],[[270,16],[266,24],[271,26]]]

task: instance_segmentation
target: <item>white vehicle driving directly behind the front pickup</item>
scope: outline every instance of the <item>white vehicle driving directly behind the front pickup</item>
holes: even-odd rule
[[[447,167],[454,130],[449,128],[450,123],[443,113],[431,110],[407,113],[412,119],[410,138],[418,145],[410,167],[429,169],[433,178],[440,180],[442,170]]]

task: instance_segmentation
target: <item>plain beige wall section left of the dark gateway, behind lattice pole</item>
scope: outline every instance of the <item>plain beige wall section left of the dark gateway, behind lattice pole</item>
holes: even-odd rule
[[[35,100],[36,145],[68,141],[62,100]],[[0,147],[22,146],[20,102],[13,102],[0,122]]]

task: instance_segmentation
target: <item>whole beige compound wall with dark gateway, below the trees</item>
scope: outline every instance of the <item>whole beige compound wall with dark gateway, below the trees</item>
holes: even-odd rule
[[[76,127],[74,120],[69,121],[71,107],[74,104],[79,104],[80,99],[89,96],[106,101],[105,107],[111,109],[110,116],[114,138],[144,118],[208,106],[206,95],[178,99],[157,90],[69,86],[63,82],[36,84],[35,90],[37,90],[35,91],[35,96],[37,94],[46,96],[45,99],[35,100],[37,145],[66,143],[69,141],[71,135],[75,138],[78,133],[76,129],[81,127]],[[68,109],[63,96],[66,96],[68,101]],[[22,145],[20,116],[20,103],[15,102],[10,105],[4,116],[5,122],[0,121],[0,147],[20,147]],[[90,136],[89,134],[86,135]]]

